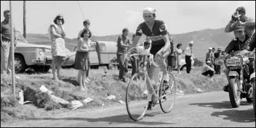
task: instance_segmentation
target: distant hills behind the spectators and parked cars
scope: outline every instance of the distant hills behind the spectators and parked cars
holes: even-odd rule
[[[132,38],[130,33],[128,36]],[[116,42],[119,35],[108,36],[92,36],[93,40]],[[224,50],[228,43],[234,38],[234,33],[225,33],[224,28],[220,29],[204,29],[200,31],[193,31],[189,33],[173,35],[175,47],[178,43],[182,44],[182,49],[188,47],[188,42],[193,40],[193,54],[195,58],[199,60],[205,60],[205,54],[208,51],[208,47],[222,47]],[[145,38],[145,37],[144,37]],[[47,37],[47,34],[28,34],[28,42],[32,44],[45,44],[51,45],[51,41]],[[143,40],[143,39],[141,39]],[[77,38],[65,38],[65,44],[68,49],[73,49],[77,44]]]

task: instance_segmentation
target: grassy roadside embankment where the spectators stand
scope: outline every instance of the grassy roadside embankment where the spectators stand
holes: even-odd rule
[[[127,83],[118,81],[118,70],[104,70],[100,67],[99,70],[90,70],[91,82],[88,83],[88,92],[81,91],[77,83],[77,70],[73,68],[61,70],[62,81],[57,82],[52,80],[51,70],[48,73],[27,72],[26,74],[17,74],[21,79],[16,79],[16,98],[19,98],[20,90],[24,90],[24,101],[30,100],[33,104],[17,104],[13,106],[12,93],[12,78],[11,76],[1,76],[1,121],[10,120],[13,118],[35,118],[40,115],[70,111],[63,108],[60,104],[54,103],[48,95],[41,93],[39,88],[44,85],[51,90],[54,95],[67,101],[79,100],[83,101],[87,97],[91,97],[93,102],[84,104],[79,109],[102,107],[102,102],[105,106],[120,104],[118,100],[125,101],[125,90],[131,70],[127,75]],[[209,77],[201,75],[201,67],[195,67],[191,74],[177,74],[174,71],[174,76],[177,81],[177,87],[184,93],[196,93],[195,88],[201,88],[205,92],[222,90],[227,84],[224,75],[214,76],[216,81],[212,82]],[[115,100],[106,99],[107,94],[115,95]],[[65,107],[65,106],[64,106]],[[54,110],[54,111],[49,111]]]

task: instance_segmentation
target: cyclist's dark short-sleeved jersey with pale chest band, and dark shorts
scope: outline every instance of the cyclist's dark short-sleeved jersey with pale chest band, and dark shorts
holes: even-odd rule
[[[142,34],[148,36],[152,40],[152,48],[150,53],[154,56],[156,53],[165,45],[163,36],[168,35],[166,24],[161,20],[155,20],[152,31],[148,28],[145,22],[141,23],[136,29],[136,36],[141,36]]]

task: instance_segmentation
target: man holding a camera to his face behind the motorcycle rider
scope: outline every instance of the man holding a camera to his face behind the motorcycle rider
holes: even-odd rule
[[[253,35],[255,30],[255,19],[245,16],[245,8],[240,6],[236,9],[236,12],[232,15],[231,20],[228,22],[225,32],[230,33],[234,31],[237,26],[244,26],[246,35],[249,37]]]

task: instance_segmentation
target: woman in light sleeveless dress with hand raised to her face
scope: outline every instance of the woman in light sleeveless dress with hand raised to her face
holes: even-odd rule
[[[63,58],[67,57],[66,48],[65,48],[65,40],[66,37],[65,30],[63,24],[65,20],[63,19],[62,14],[58,14],[53,20],[52,24],[49,26],[48,32],[51,38],[52,47],[52,74],[53,78],[56,81],[59,81],[60,76],[60,68],[63,62]],[[57,76],[56,76],[56,68],[57,68]]]

